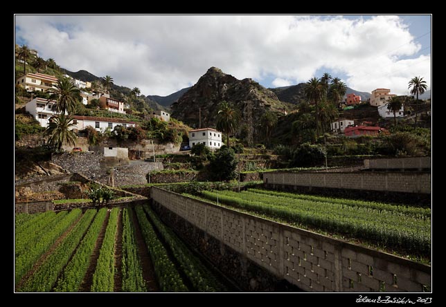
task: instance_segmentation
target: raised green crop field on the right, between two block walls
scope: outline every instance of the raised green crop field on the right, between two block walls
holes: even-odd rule
[[[278,218],[298,227],[329,232],[380,248],[430,257],[431,210],[386,203],[328,198],[264,189],[202,192],[223,205]]]

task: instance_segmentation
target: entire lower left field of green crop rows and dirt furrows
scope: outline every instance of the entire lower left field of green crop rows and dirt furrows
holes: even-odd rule
[[[223,292],[226,287],[148,205],[139,205],[17,214],[15,290]]]

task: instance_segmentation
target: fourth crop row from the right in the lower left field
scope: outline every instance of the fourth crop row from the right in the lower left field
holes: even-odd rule
[[[113,292],[115,272],[114,248],[119,210],[119,208],[115,207],[110,212],[109,223],[105,230],[104,241],[99,251],[98,263],[93,275],[91,292]]]

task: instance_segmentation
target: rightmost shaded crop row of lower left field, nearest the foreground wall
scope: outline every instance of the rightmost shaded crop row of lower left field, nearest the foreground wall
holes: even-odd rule
[[[144,210],[147,212],[154,227],[157,228],[159,234],[172,250],[172,254],[179,262],[181,270],[184,271],[195,290],[199,292],[223,292],[225,287],[215,279],[215,277],[208,271],[208,269],[201,263],[195,255],[190,252],[187,246],[166,227],[150,210],[148,205],[144,205]]]

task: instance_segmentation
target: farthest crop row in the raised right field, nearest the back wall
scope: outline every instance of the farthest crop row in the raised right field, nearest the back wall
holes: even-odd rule
[[[421,218],[427,218],[431,216],[431,210],[429,208],[407,207],[404,205],[392,205],[389,203],[377,203],[373,201],[359,201],[356,199],[332,198],[332,197],[315,196],[308,194],[294,194],[287,192],[271,191],[267,189],[248,189],[248,191],[255,192],[258,194],[266,194],[269,196],[283,196],[294,199],[303,199],[305,201],[319,201],[323,203],[347,205],[350,207],[366,207],[376,210],[387,210],[389,212],[400,212],[403,214],[409,214],[411,216],[421,217]]]

